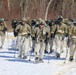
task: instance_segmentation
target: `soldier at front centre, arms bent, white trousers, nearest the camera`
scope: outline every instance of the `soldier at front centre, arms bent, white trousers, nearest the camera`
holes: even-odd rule
[[[33,30],[32,37],[35,39],[35,61],[43,63],[45,40],[46,37],[50,37],[50,31],[45,26],[43,19],[40,19],[39,26]]]

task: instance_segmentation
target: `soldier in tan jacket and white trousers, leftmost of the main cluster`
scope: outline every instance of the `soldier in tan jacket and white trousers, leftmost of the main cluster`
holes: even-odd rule
[[[22,18],[22,24],[18,25],[15,29],[15,32],[18,32],[19,37],[19,58],[26,59],[29,54],[30,41],[29,37],[31,34],[31,28],[27,24],[27,19]]]

